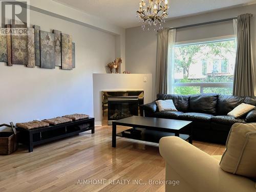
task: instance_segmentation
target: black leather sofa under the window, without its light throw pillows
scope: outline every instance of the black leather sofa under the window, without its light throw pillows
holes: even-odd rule
[[[238,97],[220,94],[163,95],[157,100],[172,99],[178,112],[159,112],[156,102],[140,105],[145,117],[193,121],[194,140],[225,144],[234,123],[256,122],[256,110],[241,118],[227,116],[241,103],[256,106],[256,97]]]

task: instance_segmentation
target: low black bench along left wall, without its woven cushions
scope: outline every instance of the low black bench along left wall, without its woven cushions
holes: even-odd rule
[[[70,137],[82,132],[92,131],[95,133],[94,118],[82,119],[53,126],[41,127],[32,130],[25,130],[16,127],[20,132],[19,143],[28,145],[29,152],[33,152],[33,146]]]

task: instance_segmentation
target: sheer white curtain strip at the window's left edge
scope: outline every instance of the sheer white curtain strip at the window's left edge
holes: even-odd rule
[[[174,64],[175,64],[176,29],[168,32],[168,62],[167,62],[167,93],[174,94]]]

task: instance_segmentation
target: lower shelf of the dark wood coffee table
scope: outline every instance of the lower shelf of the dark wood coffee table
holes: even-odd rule
[[[129,133],[130,132],[130,133]],[[133,128],[121,133],[116,134],[118,137],[124,137],[129,139],[136,139],[141,141],[148,141],[153,143],[159,143],[159,140],[162,137],[175,136],[174,133],[168,132],[160,132],[153,130],[146,130],[141,128]],[[180,134],[180,138],[183,140],[188,140],[190,138],[189,135]]]

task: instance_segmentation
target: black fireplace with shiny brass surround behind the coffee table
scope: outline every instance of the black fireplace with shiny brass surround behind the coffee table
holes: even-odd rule
[[[144,91],[102,91],[102,125],[140,115],[139,105],[143,103]]]

